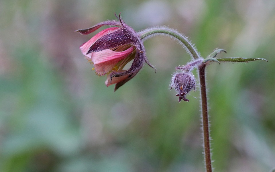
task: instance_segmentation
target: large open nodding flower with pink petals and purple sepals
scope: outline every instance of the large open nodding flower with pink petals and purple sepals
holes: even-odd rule
[[[107,75],[106,86],[116,84],[115,91],[132,79],[140,71],[144,62],[152,67],[138,34],[123,22],[120,13],[117,18],[119,21],[103,21],[91,28],[75,31],[86,35],[101,26],[119,26],[102,30],[80,46],[82,54],[89,62],[93,63],[97,75]],[[124,70],[125,65],[131,60],[133,60],[131,67]]]

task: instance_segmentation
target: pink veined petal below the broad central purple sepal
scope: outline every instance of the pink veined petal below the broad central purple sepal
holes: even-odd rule
[[[95,71],[100,75],[105,75],[106,73],[112,71],[119,61],[129,56],[134,49],[135,48],[131,46],[127,50],[121,52],[110,49],[100,52],[92,52],[91,60],[95,66]]]

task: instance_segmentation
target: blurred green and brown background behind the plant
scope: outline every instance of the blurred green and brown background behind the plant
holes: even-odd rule
[[[268,59],[211,64],[208,98],[215,171],[275,167],[274,0],[1,0],[1,172],[205,170],[199,91],[180,103],[168,91],[190,60],[177,42],[147,40],[156,74],[145,65],[116,92],[80,52],[94,34],[74,30],[114,12],[135,30],[176,28],[203,57]]]

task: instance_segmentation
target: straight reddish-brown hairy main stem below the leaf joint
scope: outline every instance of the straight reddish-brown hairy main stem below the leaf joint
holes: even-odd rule
[[[212,172],[206,84],[205,84],[205,63],[202,63],[199,66],[199,77],[200,77],[200,85],[201,85],[201,108],[202,108],[202,122],[203,122],[203,147],[204,147],[204,156],[205,156],[205,168],[206,168],[206,172]]]

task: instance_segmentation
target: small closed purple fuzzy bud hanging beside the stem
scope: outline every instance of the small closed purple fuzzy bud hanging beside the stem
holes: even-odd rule
[[[181,73],[175,73],[171,79],[171,89],[174,87],[174,89],[177,91],[177,95],[179,96],[178,102],[180,102],[181,99],[184,101],[189,101],[185,98],[186,94],[196,86],[195,77],[190,72],[181,72]]]

